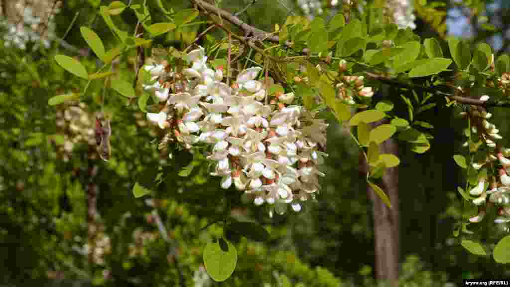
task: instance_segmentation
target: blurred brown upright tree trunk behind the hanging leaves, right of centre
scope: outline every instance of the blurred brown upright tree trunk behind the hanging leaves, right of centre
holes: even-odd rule
[[[372,128],[380,125],[377,123]],[[398,146],[394,139],[388,139],[379,145],[379,152],[397,155]],[[360,153],[360,168],[368,172],[365,157]],[[399,275],[399,202],[398,202],[398,167],[387,169],[379,183],[391,201],[390,209],[374,190],[367,185],[368,197],[372,201],[375,248],[375,278],[377,281],[391,282],[398,286]]]

